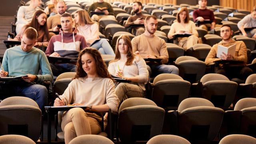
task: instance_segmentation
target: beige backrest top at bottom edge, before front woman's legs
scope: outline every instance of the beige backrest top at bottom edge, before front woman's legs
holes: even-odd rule
[[[88,134],[74,138],[69,144],[114,144],[114,142],[104,136]]]

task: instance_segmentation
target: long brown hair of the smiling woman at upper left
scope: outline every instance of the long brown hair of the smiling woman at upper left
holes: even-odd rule
[[[46,18],[46,22],[44,23],[43,26],[39,26],[40,24],[38,23],[38,19],[37,17],[40,16],[40,14],[45,14],[46,13],[42,10],[37,10],[32,18],[32,21],[30,23],[28,23],[26,25],[26,29],[28,27],[32,27],[34,29],[36,29],[36,31],[38,32],[39,28],[44,32],[44,35],[46,35],[47,40],[50,40],[50,36],[49,36],[49,31],[48,31],[48,27],[47,27],[47,18]],[[47,15],[46,15],[47,16]]]

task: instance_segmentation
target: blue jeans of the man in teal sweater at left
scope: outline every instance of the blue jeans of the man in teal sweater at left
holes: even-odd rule
[[[8,98],[11,96],[25,96],[36,101],[39,108],[44,112],[44,106],[47,104],[48,91],[45,86],[40,84],[28,84],[25,82],[9,82],[0,84],[0,96]]]

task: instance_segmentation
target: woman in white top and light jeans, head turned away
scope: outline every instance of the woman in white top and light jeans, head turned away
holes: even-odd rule
[[[75,27],[77,34],[84,36],[87,44],[96,48],[101,54],[115,55],[112,47],[106,39],[100,39],[99,26],[97,22],[92,21],[86,10],[77,10],[75,12]],[[97,42],[94,42],[98,40]]]

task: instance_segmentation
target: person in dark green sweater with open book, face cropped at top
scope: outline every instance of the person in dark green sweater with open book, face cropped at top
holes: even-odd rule
[[[98,0],[97,2],[93,3],[90,8],[88,9],[89,15],[91,12],[98,12],[99,14],[92,15],[92,20],[99,22],[100,18],[109,17],[116,19],[114,15],[114,10],[112,6],[108,2],[104,2],[104,0]],[[102,13],[102,14],[100,14]]]

